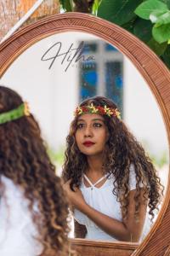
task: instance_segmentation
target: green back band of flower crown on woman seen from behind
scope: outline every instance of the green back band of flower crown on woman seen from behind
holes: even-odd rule
[[[14,108],[13,110],[5,113],[0,113],[0,125],[16,119],[20,119],[25,115],[30,115],[30,110],[27,102],[22,103],[18,108]]]

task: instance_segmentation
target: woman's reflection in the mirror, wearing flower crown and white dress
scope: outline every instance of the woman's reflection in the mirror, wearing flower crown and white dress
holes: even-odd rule
[[[150,229],[146,208],[154,218],[160,179],[111,100],[96,96],[77,108],[63,178],[74,207],[76,236],[139,241]]]

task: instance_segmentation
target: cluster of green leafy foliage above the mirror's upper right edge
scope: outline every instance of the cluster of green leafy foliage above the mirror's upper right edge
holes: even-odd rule
[[[170,68],[170,0],[59,0],[63,9],[92,13],[144,41]]]

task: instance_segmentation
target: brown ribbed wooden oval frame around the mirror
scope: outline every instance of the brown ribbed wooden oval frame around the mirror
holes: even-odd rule
[[[170,141],[170,73],[144,43],[111,22],[82,13],[51,15],[24,27],[0,45],[0,78],[13,61],[32,44],[60,32],[88,32],[116,46],[133,62],[161,108]],[[167,193],[156,223],[141,244],[71,239],[80,255],[170,255],[170,177]]]

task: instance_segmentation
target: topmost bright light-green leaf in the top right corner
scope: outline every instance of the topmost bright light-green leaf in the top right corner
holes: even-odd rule
[[[155,10],[167,11],[167,5],[159,0],[144,1],[135,9],[134,13],[144,20],[150,20],[150,14]]]

